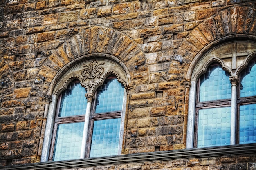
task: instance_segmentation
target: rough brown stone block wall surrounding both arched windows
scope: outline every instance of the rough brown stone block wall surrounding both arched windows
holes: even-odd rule
[[[191,61],[255,37],[256,1],[0,0],[0,165],[36,162],[50,84],[96,55],[131,77],[124,154],[185,149]]]

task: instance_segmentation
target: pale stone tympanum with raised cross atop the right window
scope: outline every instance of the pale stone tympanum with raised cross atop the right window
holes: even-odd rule
[[[191,75],[194,81],[205,73],[208,66],[213,62],[221,64],[225,71],[231,76],[238,76],[241,69],[247,67],[249,60],[255,57],[256,43],[250,41],[227,42],[211,49],[204,56],[200,57],[200,62],[195,64]]]

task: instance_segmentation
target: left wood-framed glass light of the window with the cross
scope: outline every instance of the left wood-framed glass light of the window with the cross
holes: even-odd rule
[[[198,79],[195,146],[230,144],[230,74],[220,64],[212,64]]]

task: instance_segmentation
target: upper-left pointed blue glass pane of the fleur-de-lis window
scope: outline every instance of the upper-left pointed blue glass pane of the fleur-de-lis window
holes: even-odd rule
[[[86,111],[87,99],[85,88],[78,82],[71,83],[62,93],[59,116],[83,115]]]

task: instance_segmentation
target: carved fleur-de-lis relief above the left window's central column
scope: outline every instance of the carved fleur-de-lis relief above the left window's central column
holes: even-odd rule
[[[93,60],[90,62],[89,66],[86,64],[83,64],[83,71],[81,72],[81,75],[84,77],[83,80],[89,79],[89,83],[85,83],[89,87],[92,87],[93,84],[95,84],[97,81],[99,81],[102,73],[104,72],[104,68],[100,65],[104,65],[105,62],[101,62],[98,64],[97,61]],[[96,79],[97,78],[97,79]]]

